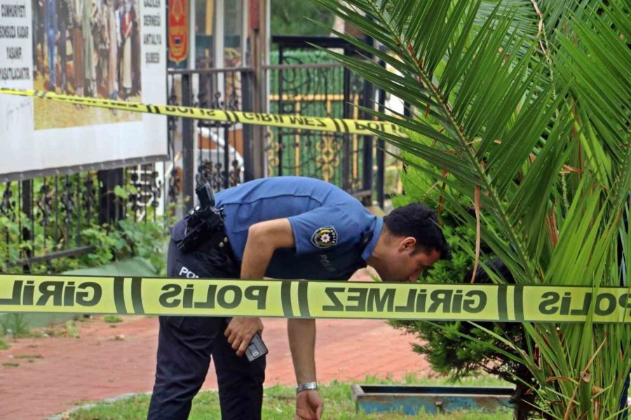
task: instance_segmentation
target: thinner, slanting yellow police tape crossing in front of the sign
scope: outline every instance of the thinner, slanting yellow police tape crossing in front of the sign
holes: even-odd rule
[[[53,101],[57,102],[96,106],[107,109],[118,109],[120,111],[151,113],[171,117],[196,118],[198,120],[266,125],[269,127],[283,127],[297,130],[314,130],[343,134],[372,135],[374,132],[371,130],[378,130],[379,132],[402,135],[402,131],[398,125],[375,120],[305,117],[244,111],[223,111],[221,109],[203,109],[193,108],[190,106],[150,105],[141,104],[140,102],[126,102],[114,99],[88,98],[70,94],[57,94],[54,92],[46,92],[44,90],[6,89],[3,87],[0,87],[0,93],[24,97],[53,99]]]

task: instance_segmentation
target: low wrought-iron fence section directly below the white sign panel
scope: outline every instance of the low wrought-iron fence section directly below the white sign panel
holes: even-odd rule
[[[154,164],[2,183],[2,265],[29,272],[33,264],[89,253],[93,246],[83,239],[86,229],[126,217],[155,220],[161,190]]]

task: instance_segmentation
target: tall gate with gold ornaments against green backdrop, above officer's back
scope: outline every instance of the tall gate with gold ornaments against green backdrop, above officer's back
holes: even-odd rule
[[[353,79],[337,64],[304,64],[306,59],[323,59],[313,50],[287,52],[283,45],[280,49],[280,64],[290,67],[271,70],[271,112],[353,118],[348,103],[360,103],[362,79]],[[361,189],[363,141],[355,137],[350,147],[343,147],[349,141],[344,134],[287,129],[270,132],[266,151],[271,174],[312,176],[349,190]]]

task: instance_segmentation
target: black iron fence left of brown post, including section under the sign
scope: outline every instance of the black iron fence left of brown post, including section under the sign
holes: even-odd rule
[[[252,109],[251,69],[170,71],[168,82],[170,104]],[[176,204],[181,215],[197,185],[222,190],[252,179],[251,126],[170,118],[168,134],[166,165],[141,160],[103,171],[64,168],[64,174],[47,170],[0,183],[0,270],[29,272],[44,264],[54,272],[56,259],[94,250],[84,235],[90,228],[114,227],[123,218],[155,221],[163,204]]]

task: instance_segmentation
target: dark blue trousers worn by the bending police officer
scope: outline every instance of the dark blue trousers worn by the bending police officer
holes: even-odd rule
[[[194,281],[196,276],[238,278],[239,267],[229,253],[210,246],[182,254],[169,245],[170,277]],[[149,420],[187,419],[191,400],[201,388],[212,356],[219,384],[219,405],[224,420],[259,420],[263,401],[265,358],[250,363],[238,357],[224,337],[225,318],[161,316],[158,335],[156,383],[149,405]]]

